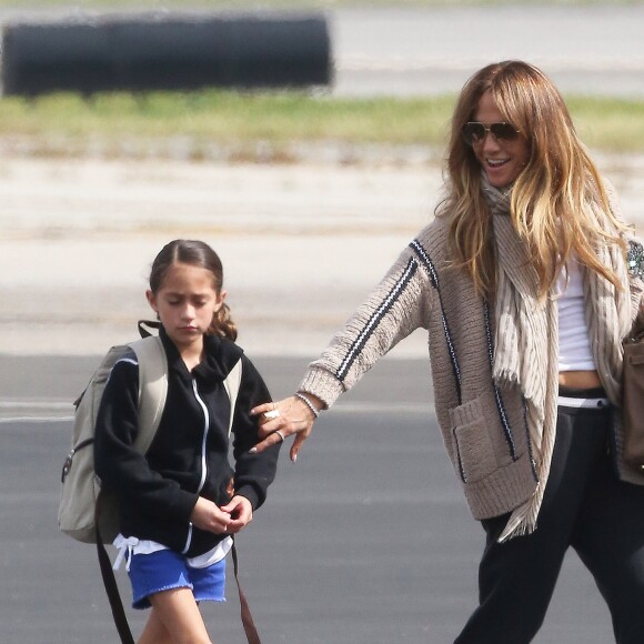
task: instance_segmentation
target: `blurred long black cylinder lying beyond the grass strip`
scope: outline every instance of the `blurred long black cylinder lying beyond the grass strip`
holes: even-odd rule
[[[2,33],[4,94],[330,82],[323,16],[128,17],[8,24]]]

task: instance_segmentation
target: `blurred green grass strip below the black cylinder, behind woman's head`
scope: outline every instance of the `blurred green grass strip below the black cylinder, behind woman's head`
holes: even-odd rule
[[[61,93],[0,100],[0,141],[37,154],[163,154],[181,142],[288,150],[293,143],[445,145],[455,97],[346,99],[298,92]],[[644,152],[644,100],[568,97],[582,140],[607,152]],[[155,152],[154,152],[155,151]]]

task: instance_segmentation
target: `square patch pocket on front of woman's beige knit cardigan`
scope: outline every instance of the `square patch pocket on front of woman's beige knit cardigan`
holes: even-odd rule
[[[499,469],[494,443],[489,432],[489,420],[481,409],[480,399],[450,410],[454,441],[454,465],[463,483],[473,483]]]

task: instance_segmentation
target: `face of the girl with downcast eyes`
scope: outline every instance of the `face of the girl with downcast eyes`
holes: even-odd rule
[[[201,345],[213,315],[223,305],[225,291],[218,292],[212,273],[191,264],[172,264],[157,293],[147,292],[165,332],[179,350]]]

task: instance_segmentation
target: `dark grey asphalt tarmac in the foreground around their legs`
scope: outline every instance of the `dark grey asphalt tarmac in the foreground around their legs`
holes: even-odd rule
[[[0,355],[2,401],[12,401],[0,405],[2,644],[117,641],[93,547],[56,521],[70,401],[97,360]],[[275,396],[306,362],[254,361]],[[444,453],[429,382],[426,361],[384,359],[322,415],[296,464],[284,452],[238,540],[264,644],[446,644],[459,633],[475,606],[483,532]],[[231,575],[228,602],[204,606],[218,644],[244,642],[235,593]],[[144,614],[128,612],[137,634]],[[611,641],[608,613],[571,553],[535,642]]]

